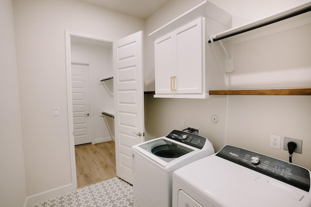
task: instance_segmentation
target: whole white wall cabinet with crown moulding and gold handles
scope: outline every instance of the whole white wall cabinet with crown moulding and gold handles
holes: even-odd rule
[[[149,34],[155,41],[154,97],[207,98],[209,90],[225,87],[224,54],[206,37],[224,31],[229,21],[205,0]]]

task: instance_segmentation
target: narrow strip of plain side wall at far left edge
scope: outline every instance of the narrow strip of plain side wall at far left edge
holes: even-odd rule
[[[0,1],[0,27],[0,206],[21,207],[26,182],[11,0]]]

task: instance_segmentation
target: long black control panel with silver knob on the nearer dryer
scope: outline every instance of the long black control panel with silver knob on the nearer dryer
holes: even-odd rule
[[[310,191],[310,171],[306,168],[230,145],[224,146],[216,156]]]

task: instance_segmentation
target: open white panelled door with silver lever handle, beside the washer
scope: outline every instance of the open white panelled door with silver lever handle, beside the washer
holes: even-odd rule
[[[132,183],[132,146],[144,141],[142,31],[113,42],[117,176]]]

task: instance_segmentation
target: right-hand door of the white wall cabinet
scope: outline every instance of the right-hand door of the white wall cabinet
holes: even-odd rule
[[[177,93],[203,93],[202,18],[176,31]]]

